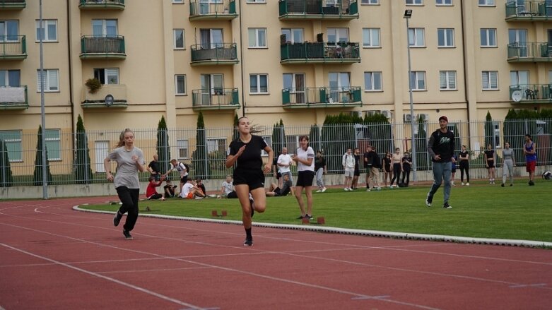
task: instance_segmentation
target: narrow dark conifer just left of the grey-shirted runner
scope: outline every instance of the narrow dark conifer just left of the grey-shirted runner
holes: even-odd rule
[[[92,169],[90,169],[90,150],[88,149],[88,137],[86,136],[81,114],[78,114],[76,121],[75,140],[75,181],[77,184],[89,184],[93,179]]]

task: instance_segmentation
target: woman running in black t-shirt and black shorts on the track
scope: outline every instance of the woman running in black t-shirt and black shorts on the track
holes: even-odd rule
[[[234,187],[242,205],[242,222],[245,228],[243,245],[252,246],[251,217],[255,210],[263,213],[266,208],[264,174],[270,172],[274,152],[261,136],[252,135],[252,132],[256,131],[251,128],[247,117],[237,120],[237,130],[240,136],[230,143],[225,165],[226,168],[235,165]],[[266,165],[263,165],[261,150],[269,155]],[[254,205],[249,200],[249,193],[254,198]]]

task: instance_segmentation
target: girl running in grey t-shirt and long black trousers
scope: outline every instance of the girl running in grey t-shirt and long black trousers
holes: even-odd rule
[[[115,177],[111,174],[110,162],[117,162]],[[143,172],[143,152],[134,146],[134,133],[130,129],[124,129],[119,136],[119,143],[112,152],[103,160],[103,166],[107,171],[106,179],[113,181],[117,195],[122,205],[113,217],[113,225],[118,226],[124,213],[128,213],[124,222],[123,235],[132,239],[130,234],[138,219],[138,201],[140,195],[140,182],[138,172]]]

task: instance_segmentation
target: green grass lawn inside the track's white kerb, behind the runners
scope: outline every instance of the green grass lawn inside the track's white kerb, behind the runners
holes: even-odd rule
[[[370,192],[363,188],[354,192],[328,189],[313,193],[313,213],[315,218],[323,216],[326,226],[331,227],[552,242],[552,181],[536,179],[535,186],[528,186],[525,179],[516,181],[504,188],[500,181],[495,185],[474,181],[471,186],[455,186],[449,201],[452,209],[448,210],[442,208],[442,187],[431,208],[424,202],[429,185]],[[300,215],[295,197],[266,200],[266,212],[256,213],[254,222],[300,224],[295,220]],[[141,213],[146,213],[146,206],[151,209],[147,213],[206,218],[211,218],[211,210],[219,214],[228,210],[226,219],[241,220],[237,199],[141,201]],[[83,208],[114,211],[118,205]]]

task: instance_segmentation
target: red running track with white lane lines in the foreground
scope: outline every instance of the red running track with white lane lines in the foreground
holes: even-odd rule
[[[552,252],[0,202],[0,309],[551,309]],[[270,212],[270,210],[267,210]],[[262,216],[262,215],[260,215]]]

